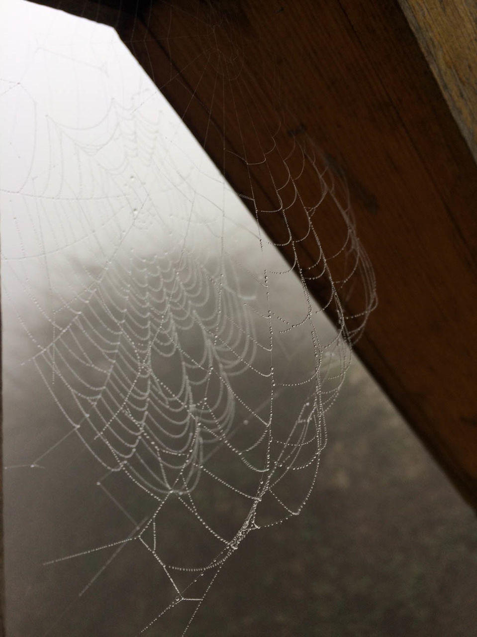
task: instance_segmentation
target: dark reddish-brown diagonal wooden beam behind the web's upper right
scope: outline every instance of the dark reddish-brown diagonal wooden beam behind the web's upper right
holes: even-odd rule
[[[97,5],[60,8],[94,18]],[[357,351],[476,505],[477,167],[398,0],[183,0],[96,16],[117,27],[232,185],[244,192],[253,183],[264,208],[276,202],[269,175],[280,175],[280,153],[300,137],[322,148],[328,173],[346,175],[380,299]],[[224,71],[233,50],[247,89],[231,108],[217,78],[237,68],[236,60]],[[243,162],[225,156],[224,138],[249,161],[262,156],[260,131],[276,130],[277,108],[280,152],[267,154],[266,170],[244,173]],[[316,199],[311,174],[300,187]],[[288,218],[304,236],[299,213]],[[325,201],[313,219],[332,254],[343,233],[338,215]],[[280,243],[282,225],[266,215],[260,222]],[[317,244],[301,247],[313,261]],[[329,290],[313,292],[329,301]],[[360,302],[355,294],[346,308],[356,313]]]

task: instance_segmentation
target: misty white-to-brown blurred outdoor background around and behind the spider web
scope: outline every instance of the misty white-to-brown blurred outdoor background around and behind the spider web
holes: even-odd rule
[[[308,301],[278,252],[270,246],[260,252],[250,213],[115,32],[8,2],[0,37],[7,634],[136,635],[174,595],[143,545],[121,543],[151,515],[152,503],[122,474],[103,483],[108,494],[98,487],[104,466],[72,429],[80,408],[55,378],[48,361],[61,352],[51,343],[80,313],[81,329],[69,329],[65,342],[73,347],[79,340],[103,378],[99,340],[87,334],[115,325],[104,295],[125,306],[129,283],[146,289],[147,276],[171,293],[174,276],[186,282],[203,264],[210,277],[191,289],[213,299],[211,281],[224,267],[224,250],[240,301],[249,299],[253,308],[270,303],[290,320],[303,315]],[[281,272],[271,277],[268,301],[264,259]],[[157,292],[150,303],[160,302]],[[214,307],[204,300],[197,326]],[[266,345],[266,320],[244,307],[236,307],[239,324],[251,322],[257,342]],[[331,369],[339,368],[346,350],[337,352],[334,330],[319,308],[313,311],[324,354]],[[313,357],[306,338],[297,329],[274,343],[281,383],[307,378]],[[192,328],[183,331],[181,345],[190,359],[205,347]],[[257,352],[253,362],[266,370],[269,355]],[[172,363],[166,367],[171,387],[182,382]],[[94,386],[97,379],[89,380]],[[78,383],[73,373],[69,382]],[[245,403],[234,412],[239,445],[254,426],[248,407],[268,417],[270,382],[247,373],[234,382]],[[336,382],[327,383],[334,396]],[[307,391],[310,385],[277,396],[281,422],[299,411]],[[189,634],[475,634],[475,515],[355,357],[327,412],[327,431],[317,483],[301,515],[248,534]],[[256,489],[243,464],[224,455],[222,465],[217,470],[227,472],[228,482]],[[290,503],[299,504],[310,481],[306,471],[287,480]],[[197,502],[216,515],[217,527],[234,533],[246,514],[239,497],[206,477],[201,485]],[[264,517],[272,520],[273,513]],[[160,517],[157,538],[164,555],[184,564],[213,555],[193,517],[173,508]],[[83,555],[55,561],[76,553]],[[193,610],[182,602],[144,634],[181,634]]]

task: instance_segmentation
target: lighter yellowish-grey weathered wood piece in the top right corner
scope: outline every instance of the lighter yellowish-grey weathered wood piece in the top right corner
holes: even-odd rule
[[[399,0],[460,130],[477,159],[477,3]]]

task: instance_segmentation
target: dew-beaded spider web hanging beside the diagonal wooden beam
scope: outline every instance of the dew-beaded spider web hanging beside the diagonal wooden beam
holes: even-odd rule
[[[251,178],[231,189],[110,27],[15,7],[0,97],[6,469],[32,482],[46,470],[53,491],[78,491],[80,507],[96,489],[90,517],[104,515],[77,537],[62,521],[59,544],[36,545],[43,573],[73,566],[62,571],[67,599],[46,608],[35,634],[184,634],[246,536],[298,515],[310,496],[348,344],[374,306],[373,273],[348,199],[306,136],[282,153],[260,118],[244,125],[233,161],[269,171],[269,155],[283,155],[280,175],[269,173],[278,205],[264,208]],[[236,106],[250,90],[239,46],[224,75],[213,19],[199,27],[201,63],[217,68],[210,104]],[[260,157],[246,152],[250,125]],[[304,171],[316,179],[309,202]],[[346,227],[328,259],[315,233],[325,199]],[[262,229],[271,215],[288,262]],[[310,237],[320,256],[303,264],[297,245]],[[346,317],[340,297],[357,269],[364,310]],[[310,296],[317,281],[338,332]],[[103,633],[101,622],[74,632],[80,602],[133,563],[154,590],[129,632],[120,614]]]

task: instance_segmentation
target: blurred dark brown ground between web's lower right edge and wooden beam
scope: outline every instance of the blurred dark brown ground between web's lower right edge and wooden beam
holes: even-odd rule
[[[471,637],[477,519],[353,366],[297,519],[251,534],[191,635]]]

